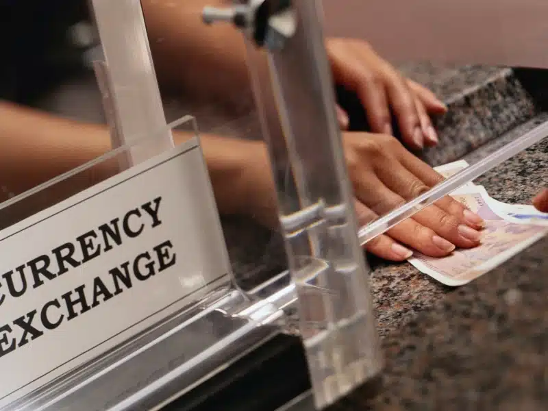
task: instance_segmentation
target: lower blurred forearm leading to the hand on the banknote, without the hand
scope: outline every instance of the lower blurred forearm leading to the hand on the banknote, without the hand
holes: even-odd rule
[[[174,132],[175,144],[189,136]],[[110,135],[103,125],[60,119],[0,101],[0,188],[14,193],[29,190],[98,158],[110,147]],[[220,212],[249,212],[256,203],[249,170],[264,169],[253,167],[267,162],[264,144],[206,134],[201,136],[201,147]],[[108,166],[112,162],[97,167],[99,177],[114,173]]]

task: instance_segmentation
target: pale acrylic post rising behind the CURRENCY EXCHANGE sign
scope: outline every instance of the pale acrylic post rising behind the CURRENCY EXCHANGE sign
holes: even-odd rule
[[[173,147],[140,0],[91,0],[111,86],[121,145],[135,136],[158,135],[157,153]],[[132,151],[132,163],[149,153]]]

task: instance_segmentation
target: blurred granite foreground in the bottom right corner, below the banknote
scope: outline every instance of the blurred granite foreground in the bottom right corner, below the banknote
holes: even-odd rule
[[[348,410],[548,409],[548,238],[384,339],[385,386]]]

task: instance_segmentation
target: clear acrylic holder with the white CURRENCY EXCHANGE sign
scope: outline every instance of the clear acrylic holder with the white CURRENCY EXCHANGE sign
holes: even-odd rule
[[[282,308],[290,306],[295,300],[292,288],[288,288],[288,282],[280,277],[277,280],[279,284],[271,282],[266,287],[255,288],[253,292],[257,295],[256,301],[237,290],[231,278],[232,270],[225,259],[224,237],[200,153],[195,119],[186,116],[168,127],[177,127],[179,132],[175,133],[173,148],[160,155],[155,154],[156,145],[158,138],[165,134],[165,129],[160,130],[158,135],[134,138],[132,145],[108,151],[99,158],[0,204],[0,221],[4,225],[0,230],[0,247],[6,253],[3,254],[2,262],[6,266],[13,260],[11,257],[6,258],[7,254],[22,258],[25,253],[45,253],[47,244],[43,244],[45,240],[42,238],[45,235],[53,242],[62,242],[75,228],[97,223],[97,216],[93,212],[88,212],[88,218],[82,218],[82,210],[101,209],[103,213],[112,214],[115,210],[127,207],[128,201],[147,197],[152,192],[162,192],[166,210],[169,210],[170,199],[179,199],[175,204],[179,207],[175,210],[175,216],[178,217],[169,223],[168,230],[173,234],[171,244],[176,250],[176,254],[173,254],[176,258],[172,262],[178,259],[181,261],[179,264],[182,264],[180,269],[164,273],[162,279],[161,264],[158,266],[158,263],[152,265],[148,262],[145,269],[160,271],[146,276],[142,266],[136,268],[136,263],[130,264],[128,267],[133,269],[125,271],[125,265],[122,264],[119,271],[109,271],[113,278],[116,277],[113,286],[108,275],[105,277],[104,273],[99,272],[101,266],[95,264],[89,270],[84,267],[84,251],[82,262],[75,260],[80,258],[77,251],[69,254],[69,257],[64,255],[67,272],[59,276],[61,282],[58,280],[56,287],[43,288],[45,291],[42,295],[35,295],[34,298],[29,296],[30,299],[25,299],[26,295],[23,295],[21,289],[15,291],[16,282],[10,282],[9,279],[13,273],[3,275],[2,290],[5,294],[1,301],[4,318],[15,315],[15,311],[23,310],[25,304],[32,301],[41,313],[41,320],[32,322],[33,336],[40,336],[40,339],[28,347],[21,346],[21,352],[26,349],[23,355],[34,366],[21,361],[17,367],[14,366],[15,360],[12,359],[18,351],[11,353],[3,343],[3,355],[0,357],[3,367],[18,368],[24,370],[24,373],[10,375],[9,382],[3,380],[1,410],[154,408],[183,395],[245,356],[254,347],[279,334],[276,324],[284,315]],[[140,160],[132,162],[129,169],[121,169],[120,164],[126,164],[125,160],[132,158],[135,152],[139,153]],[[149,153],[150,158],[145,158],[145,153]],[[190,157],[186,162],[173,161],[182,155]],[[174,169],[166,174],[161,171],[166,167]],[[154,180],[155,175],[162,173],[166,179]],[[115,203],[113,199],[116,199]],[[71,214],[72,219],[66,214]],[[166,219],[168,214],[166,211],[162,219]],[[139,215],[139,212],[133,212],[133,215]],[[50,235],[51,230],[46,229],[44,232],[45,229],[41,228],[49,221],[53,221],[52,224],[57,227],[55,236]],[[105,247],[99,248],[103,254],[109,251],[109,244],[116,244],[119,251],[112,256],[114,260],[131,258],[131,251],[124,240],[117,240],[116,236],[116,233],[127,233],[128,229],[131,232],[131,227],[128,228],[131,224],[127,223],[126,227],[126,223],[125,219],[112,219],[110,223],[103,224],[104,227],[99,226],[95,236],[92,231],[86,234],[87,248],[82,247],[90,251],[90,245],[93,245],[90,238],[97,238],[97,246],[103,235],[105,242],[99,245]],[[28,236],[21,237],[25,231],[29,232]],[[142,246],[149,240],[142,240]],[[13,245],[13,241],[23,241],[32,247],[27,247],[27,252]],[[53,251],[52,262],[56,255]],[[72,260],[70,256],[73,256]],[[141,265],[145,258],[143,256],[138,256]],[[100,256],[94,251],[94,256],[88,256],[88,259],[95,257]],[[196,259],[200,258],[203,258],[203,264],[195,264]],[[52,264],[45,273],[55,274],[55,264]],[[80,287],[87,290],[87,300],[84,297],[70,300],[63,295],[52,299],[53,303],[50,301],[44,304],[45,299],[47,301],[55,292],[66,291],[65,288],[70,286],[67,283],[69,277],[72,277],[71,284],[73,281],[84,282],[84,279],[78,279],[78,272],[70,270],[79,264],[84,267],[79,273],[92,282],[92,286],[84,284]],[[63,266],[59,267],[62,269]],[[93,267],[97,270],[92,271]],[[167,266],[164,268],[169,270]],[[19,267],[19,270],[18,273],[23,276],[24,266]],[[127,277],[124,277],[124,272]],[[129,279],[130,272],[135,276],[132,279]],[[98,277],[94,279],[95,275]],[[104,301],[95,294],[98,292],[97,278],[101,276]],[[29,284],[32,281],[30,278],[27,279]],[[155,278],[155,281],[152,280],[155,284],[149,284],[151,278]],[[55,277],[47,279],[51,284],[55,281]],[[27,288],[26,285],[24,287]],[[18,295],[10,297],[8,291],[18,292]],[[138,303],[138,299],[144,297],[143,292],[146,303]],[[15,297],[21,297],[19,305],[9,301]],[[108,301],[110,299],[116,300],[118,305],[112,305]],[[74,302],[69,304],[69,300]],[[77,310],[78,304],[82,305],[82,310]],[[52,305],[59,310],[69,310],[69,314],[63,314],[58,322],[51,323],[55,314],[52,314],[55,311]],[[75,314],[70,314],[71,310]],[[94,323],[97,316],[105,315],[104,310],[110,310],[108,321]],[[147,316],[140,318],[143,312]],[[75,318],[77,320],[71,322]],[[85,330],[81,329],[78,334],[75,327],[85,327]],[[36,334],[42,329],[39,335]],[[11,334],[3,327],[3,333],[15,338],[16,326],[13,325]],[[97,342],[97,338],[104,340]],[[45,347],[51,344],[55,345],[55,350],[45,356]],[[10,357],[11,354],[14,356]]]

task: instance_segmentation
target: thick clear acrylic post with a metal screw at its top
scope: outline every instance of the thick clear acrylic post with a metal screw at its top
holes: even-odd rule
[[[265,67],[261,51],[248,45],[249,69],[273,162],[312,390],[316,407],[323,408],[376,377],[382,359],[334,110],[321,5],[237,3],[228,11],[207,9],[204,17],[240,27],[247,18],[245,30],[267,51]],[[281,177],[287,167],[289,186]]]

